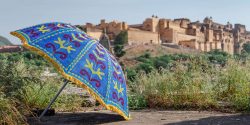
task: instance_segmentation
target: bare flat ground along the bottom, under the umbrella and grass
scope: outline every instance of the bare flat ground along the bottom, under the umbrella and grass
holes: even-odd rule
[[[131,111],[132,119],[124,121],[116,113],[102,110],[77,113],[57,113],[41,121],[28,118],[30,125],[250,125],[250,114],[230,114],[208,111]]]

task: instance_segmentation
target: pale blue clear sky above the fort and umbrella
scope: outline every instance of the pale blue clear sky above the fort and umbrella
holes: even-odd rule
[[[245,24],[250,30],[250,0],[0,0],[0,35],[14,44],[9,32],[45,22],[82,25],[107,21],[142,23],[153,14],[159,18],[189,18]]]

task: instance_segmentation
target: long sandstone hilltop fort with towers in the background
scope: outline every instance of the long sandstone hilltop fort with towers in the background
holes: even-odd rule
[[[203,22],[191,22],[187,18],[171,20],[152,16],[142,24],[101,20],[98,25],[86,23],[81,27],[96,39],[103,37],[104,30],[111,41],[121,31],[127,31],[129,45],[178,45],[204,52],[219,49],[230,54],[240,53],[242,45],[250,41],[245,25],[219,24],[212,17],[206,17]]]

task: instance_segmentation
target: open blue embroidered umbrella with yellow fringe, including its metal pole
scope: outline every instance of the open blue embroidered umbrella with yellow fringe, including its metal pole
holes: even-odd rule
[[[11,34],[20,38],[25,48],[50,61],[67,80],[85,88],[107,109],[129,119],[126,80],[121,66],[97,40],[75,26],[57,22]]]

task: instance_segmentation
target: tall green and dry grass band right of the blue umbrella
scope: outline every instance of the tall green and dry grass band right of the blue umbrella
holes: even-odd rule
[[[188,67],[176,63],[172,70],[138,75],[129,83],[130,94],[143,96],[151,108],[220,109],[224,102],[231,111],[250,111],[249,70],[249,62],[234,59],[225,67],[190,60]]]

